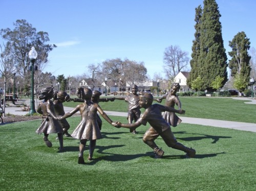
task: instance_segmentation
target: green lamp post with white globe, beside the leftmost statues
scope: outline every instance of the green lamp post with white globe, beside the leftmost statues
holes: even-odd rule
[[[30,114],[36,113],[35,111],[35,100],[34,100],[34,64],[35,59],[37,58],[37,52],[35,51],[35,47],[32,46],[29,51],[29,58],[31,62],[31,99],[30,99]]]

